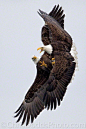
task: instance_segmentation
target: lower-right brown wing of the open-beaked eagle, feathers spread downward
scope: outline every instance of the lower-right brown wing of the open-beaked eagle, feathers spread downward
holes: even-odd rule
[[[47,109],[56,109],[57,102],[60,105],[75,70],[76,63],[73,60],[68,53],[55,55],[55,65],[49,79],[43,85],[46,89],[43,101]]]

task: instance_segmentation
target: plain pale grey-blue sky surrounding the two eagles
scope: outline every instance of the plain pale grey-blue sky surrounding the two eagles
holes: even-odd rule
[[[36,67],[31,60],[40,56],[44,21],[38,9],[63,7],[65,29],[78,52],[79,71],[55,111],[46,109],[33,124],[21,127],[13,118],[34,81]],[[0,0],[0,129],[86,128],[86,0]]]

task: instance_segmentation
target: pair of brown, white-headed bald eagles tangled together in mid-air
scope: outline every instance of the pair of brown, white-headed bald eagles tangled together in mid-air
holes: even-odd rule
[[[17,122],[23,116],[22,125],[26,121],[26,126],[29,120],[33,122],[44,108],[52,110],[60,105],[76,67],[75,59],[70,52],[73,41],[64,30],[65,15],[62,7],[55,5],[49,14],[41,10],[38,14],[45,21],[45,25],[41,32],[44,46],[37,50],[44,51],[44,54],[41,58],[32,57],[37,75],[15,112]]]

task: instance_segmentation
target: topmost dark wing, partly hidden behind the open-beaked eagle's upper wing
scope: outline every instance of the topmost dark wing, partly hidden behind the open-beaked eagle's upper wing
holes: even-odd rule
[[[65,14],[63,14],[62,7],[59,7],[59,5],[58,6],[55,5],[52,11],[48,15],[53,17],[59,23],[59,25],[64,29]],[[48,45],[51,43],[49,31],[50,30],[48,25],[44,25],[42,27],[41,38],[44,45]]]

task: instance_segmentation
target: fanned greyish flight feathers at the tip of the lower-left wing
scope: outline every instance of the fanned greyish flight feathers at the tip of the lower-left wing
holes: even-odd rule
[[[44,109],[44,103],[39,99],[38,96],[34,96],[32,101],[27,101],[26,99],[23,101],[19,109],[15,112],[15,117],[18,117],[17,122],[22,119],[23,125],[26,121],[26,126],[29,124],[30,118],[31,123],[33,122],[34,118],[36,118],[40,112]]]

